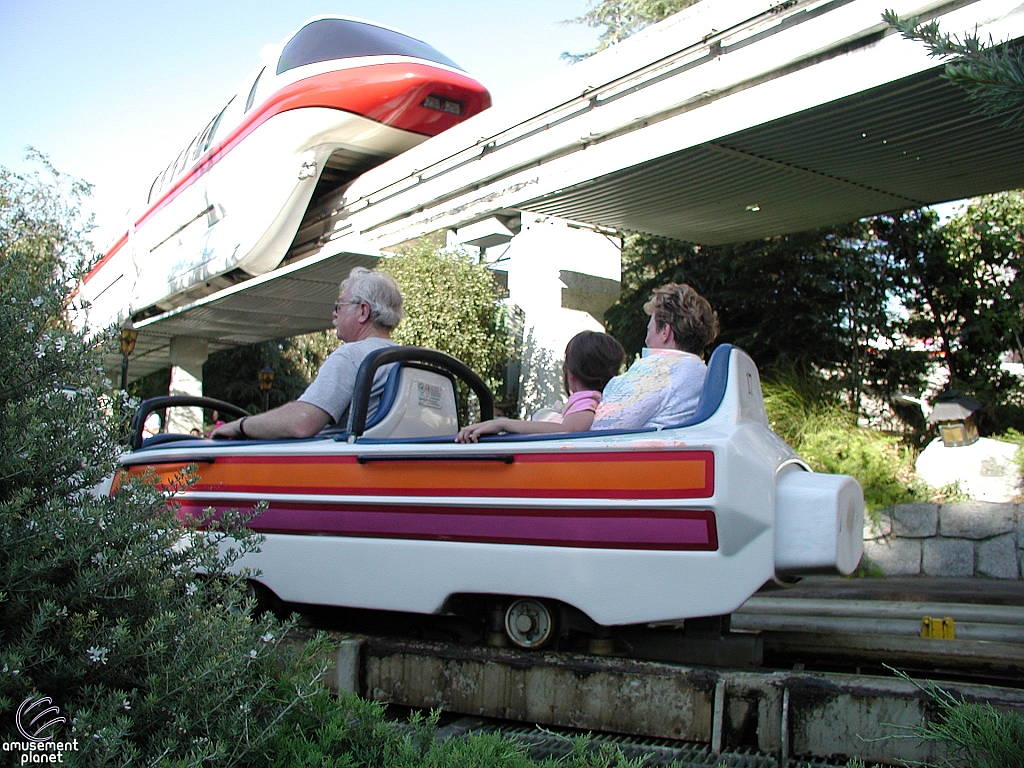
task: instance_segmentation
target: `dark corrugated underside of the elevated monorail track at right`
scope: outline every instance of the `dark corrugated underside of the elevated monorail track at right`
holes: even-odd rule
[[[521,207],[722,245],[1024,186],[1024,130],[974,112],[965,91],[940,73],[889,83]]]

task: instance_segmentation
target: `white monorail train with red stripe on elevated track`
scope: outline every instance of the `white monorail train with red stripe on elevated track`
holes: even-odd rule
[[[261,58],[86,275],[92,328],[273,269],[321,198],[490,105],[451,59],[371,22],[314,17]]]

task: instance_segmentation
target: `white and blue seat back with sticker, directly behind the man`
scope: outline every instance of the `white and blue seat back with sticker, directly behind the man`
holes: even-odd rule
[[[459,432],[455,381],[440,371],[398,362],[384,384],[380,406],[364,437],[433,437]]]

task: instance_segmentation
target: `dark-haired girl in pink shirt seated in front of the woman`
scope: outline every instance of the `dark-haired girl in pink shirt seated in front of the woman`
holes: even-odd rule
[[[601,390],[618,374],[626,352],[623,345],[607,334],[584,331],[565,345],[562,384],[569,395],[558,421],[520,421],[492,419],[463,427],[456,442],[476,442],[481,434],[516,432],[586,432],[594,423],[594,412],[601,401]]]

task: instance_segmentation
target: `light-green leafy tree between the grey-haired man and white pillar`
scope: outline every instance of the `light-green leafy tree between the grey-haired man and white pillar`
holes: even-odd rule
[[[446,352],[500,391],[510,345],[494,272],[466,253],[426,241],[401,249],[379,268],[401,288],[406,318],[392,338]]]

